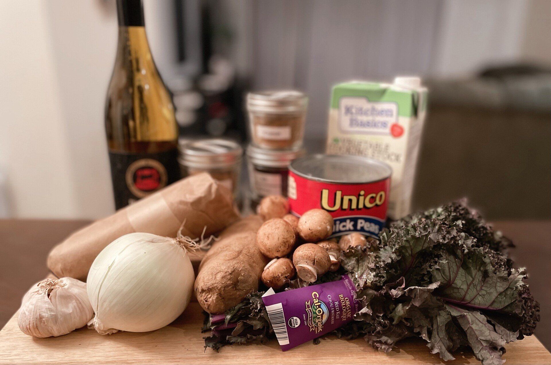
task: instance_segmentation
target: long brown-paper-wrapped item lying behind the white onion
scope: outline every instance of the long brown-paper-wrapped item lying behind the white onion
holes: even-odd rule
[[[58,277],[86,280],[92,262],[115,239],[133,232],[198,238],[217,233],[236,221],[231,192],[207,173],[177,181],[155,194],[118,210],[69,236],[48,255],[48,267]]]

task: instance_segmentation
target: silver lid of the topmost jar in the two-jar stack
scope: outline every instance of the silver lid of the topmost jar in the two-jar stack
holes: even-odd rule
[[[306,111],[308,98],[296,90],[253,92],[247,94],[249,111],[288,113]]]

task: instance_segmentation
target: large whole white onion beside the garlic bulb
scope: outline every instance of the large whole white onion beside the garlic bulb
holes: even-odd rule
[[[88,298],[100,334],[147,332],[174,321],[190,302],[195,274],[190,242],[149,233],[114,240],[88,273]]]

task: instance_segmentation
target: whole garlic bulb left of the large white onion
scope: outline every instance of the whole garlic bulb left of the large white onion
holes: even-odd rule
[[[18,324],[29,336],[61,336],[85,326],[93,316],[86,284],[62,277],[42,280],[26,292]]]

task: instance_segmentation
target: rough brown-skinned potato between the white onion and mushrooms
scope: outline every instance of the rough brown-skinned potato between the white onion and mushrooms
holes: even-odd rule
[[[221,314],[258,290],[268,259],[255,243],[262,218],[249,216],[220,234],[207,251],[195,280],[195,294],[210,314]]]

